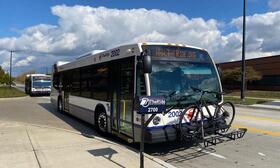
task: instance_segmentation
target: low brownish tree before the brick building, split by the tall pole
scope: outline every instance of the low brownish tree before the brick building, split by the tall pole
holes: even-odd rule
[[[246,67],[246,82],[256,81],[262,79],[262,74],[256,71],[253,67]],[[222,83],[225,85],[232,85],[241,82],[241,68],[227,69],[222,71]]]

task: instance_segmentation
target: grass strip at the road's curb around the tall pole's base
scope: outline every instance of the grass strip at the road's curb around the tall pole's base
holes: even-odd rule
[[[239,97],[232,96],[224,96],[224,101],[230,101],[233,104],[244,104],[244,105],[252,105],[252,104],[262,104],[265,102],[269,102],[271,100],[268,99],[254,99],[254,98],[245,98],[244,101],[240,100]]]

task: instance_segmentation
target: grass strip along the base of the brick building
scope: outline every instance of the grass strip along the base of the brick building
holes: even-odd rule
[[[240,91],[233,91],[227,94],[227,96],[240,96]],[[245,92],[246,97],[256,97],[263,99],[280,99],[280,91],[257,91],[248,90]]]

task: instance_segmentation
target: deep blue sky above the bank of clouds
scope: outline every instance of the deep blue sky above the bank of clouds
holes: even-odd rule
[[[268,11],[266,0],[247,0],[248,15]],[[17,36],[18,31],[40,23],[57,24],[52,15],[55,5],[89,5],[117,9],[162,9],[184,14],[190,18],[202,17],[229,22],[242,15],[243,0],[0,0],[0,37]],[[231,31],[225,29],[225,33]]]

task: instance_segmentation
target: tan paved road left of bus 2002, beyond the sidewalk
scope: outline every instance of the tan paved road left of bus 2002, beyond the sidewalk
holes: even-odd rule
[[[96,135],[91,125],[70,115],[58,113],[47,96],[0,99],[0,120],[46,125]]]

